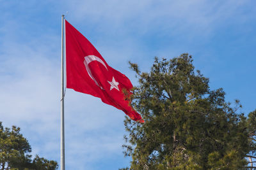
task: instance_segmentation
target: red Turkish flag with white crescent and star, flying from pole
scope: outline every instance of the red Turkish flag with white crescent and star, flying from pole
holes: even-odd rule
[[[132,120],[144,120],[130,105],[132,83],[108,66],[96,48],[65,20],[67,88],[99,97],[124,111]],[[125,92],[125,93],[124,93]]]

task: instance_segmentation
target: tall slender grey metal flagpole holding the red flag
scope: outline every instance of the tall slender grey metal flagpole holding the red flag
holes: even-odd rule
[[[60,107],[60,169],[65,170],[65,134],[64,134],[64,15],[61,16],[61,107]]]

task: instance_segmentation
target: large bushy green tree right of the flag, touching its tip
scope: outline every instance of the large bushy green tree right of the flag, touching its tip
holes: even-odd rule
[[[159,60],[150,73],[131,64],[140,85],[134,87],[132,106],[145,124],[126,118],[125,156],[131,169],[243,169],[244,157],[254,143],[248,138],[248,124],[255,127],[255,113],[249,119],[237,114],[223,89],[210,90],[209,79],[195,71],[187,53]],[[252,117],[252,118],[250,118]],[[249,131],[250,130],[250,131]],[[255,150],[255,148],[254,148]]]

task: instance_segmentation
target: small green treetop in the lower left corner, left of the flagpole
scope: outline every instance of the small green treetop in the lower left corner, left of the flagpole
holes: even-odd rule
[[[36,155],[31,160],[31,146],[20,134],[20,128],[4,128],[0,122],[0,168],[13,170],[55,170],[58,164],[54,160],[46,160]]]

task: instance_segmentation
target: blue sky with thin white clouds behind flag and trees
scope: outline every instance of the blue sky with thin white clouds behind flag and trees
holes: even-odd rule
[[[33,155],[60,162],[61,15],[109,66],[138,84],[128,61],[148,71],[155,56],[188,52],[196,69],[223,87],[241,112],[255,110],[255,1],[0,0],[0,121],[17,125]],[[124,113],[67,89],[67,169],[118,169]]]

